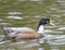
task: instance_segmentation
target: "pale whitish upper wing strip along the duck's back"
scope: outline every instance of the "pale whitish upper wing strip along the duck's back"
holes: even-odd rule
[[[29,27],[6,27],[4,29],[10,32],[35,32],[32,28]]]

